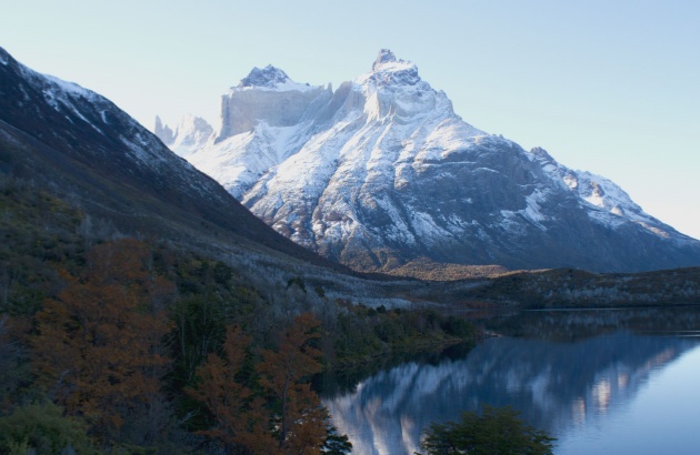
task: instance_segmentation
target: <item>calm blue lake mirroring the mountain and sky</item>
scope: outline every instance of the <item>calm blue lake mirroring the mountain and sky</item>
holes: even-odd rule
[[[412,454],[431,422],[512,406],[556,454],[699,454],[700,311],[523,312],[478,320],[473,347],[326,378],[322,398],[354,454]]]

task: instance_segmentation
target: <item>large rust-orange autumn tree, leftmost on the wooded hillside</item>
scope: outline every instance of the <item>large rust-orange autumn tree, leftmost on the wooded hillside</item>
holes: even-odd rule
[[[40,382],[104,441],[158,398],[169,363],[162,311],[173,287],[149,272],[149,254],[136,240],[94,246],[82,272],[59,272],[66,286],[36,315]]]

